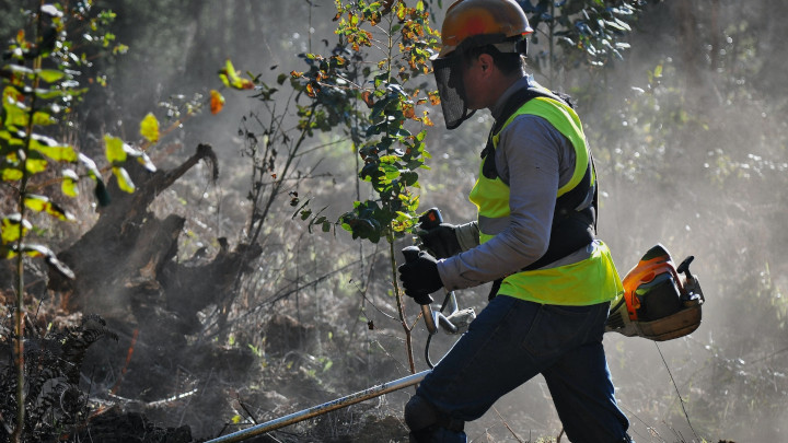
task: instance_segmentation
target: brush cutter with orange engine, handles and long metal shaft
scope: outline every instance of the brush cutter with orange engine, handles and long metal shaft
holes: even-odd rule
[[[440,212],[432,208],[421,218],[425,221],[440,224]],[[419,248],[409,246],[403,249],[405,260],[418,258]],[[613,302],[613,308],[605,325],[605,333],[615,331],[627,337],[644,337],[654,341],[664,341],[693,333],[700,325],[700,306],[705,302],[700,283],[690,272],[690,264],[694,257],[687,257],[676,268],[668,249],[661,244],[653,246],[640,259],[623,280],[624,293]],[[450,307],[449,315],[444,315]],[[323,413],[366,401],[395,390],[414,386],[432,372],[429,358],[430,339],[439,329],[448,334],[461,334],[476,318],[473,308],[461,310],[453,291],[448,291],[440,310],[432,310],[430,304],[421,305],[421,314],[429,331],[425,358],[430,369],[386,382],[368,389],[337,398],[293,412],[275,420],[267,421],[228,435],[222,435],[206,443],[240,442],[266,432],[294,424]]]

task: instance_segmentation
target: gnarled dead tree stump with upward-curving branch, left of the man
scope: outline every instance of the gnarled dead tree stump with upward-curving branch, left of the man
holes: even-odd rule
[[[137,326],[175,319],[166,323],[169,329],[189,334],[197,326],[196,313],[233,290],[240,272],[250,269],[245,264],[259,256],[258,245],[241,244],[232,252],[225,246],[211,260],[178,264],[185,219],[170,214],[161,220],[149,210],[157,196],[201,160],[211,164],[216,179],[216,154],[210,145],[199,144],[194,155],[170,171],[150,173],[129,165],[138,185],[134,194],[111,183],[112,203],[101,210],[90,231],[58,255],[77,278],[49,272],[49,288],[63,295],[66,312],[91,312]]]

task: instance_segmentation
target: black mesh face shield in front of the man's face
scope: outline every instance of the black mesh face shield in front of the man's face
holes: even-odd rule
[[[449,57],[433,58],[432,69],[438,83],[438,94],[441,98],[443,119],[448,129],[454,129],[471,118],[476,112],[468,109],[465,104],[465,90],[463,88],[463,60],[454,51]]]

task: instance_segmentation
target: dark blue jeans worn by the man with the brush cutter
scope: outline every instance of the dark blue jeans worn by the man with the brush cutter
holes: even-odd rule
[[[416,390],[455,420],[482,417],[542,374],[572,443],[624,442],[629,422],[614,397],[602,335],[610,303],[557,306],[498,295]],[[438,430],[433,442],[464,443]]]

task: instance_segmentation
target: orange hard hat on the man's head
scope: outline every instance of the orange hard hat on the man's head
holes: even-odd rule
[[[438,58],[456,49],[468,37],[506,39],[533,33],[522,8],[514,0],[457,0],[449,7],[441,28],[442,48]]]

